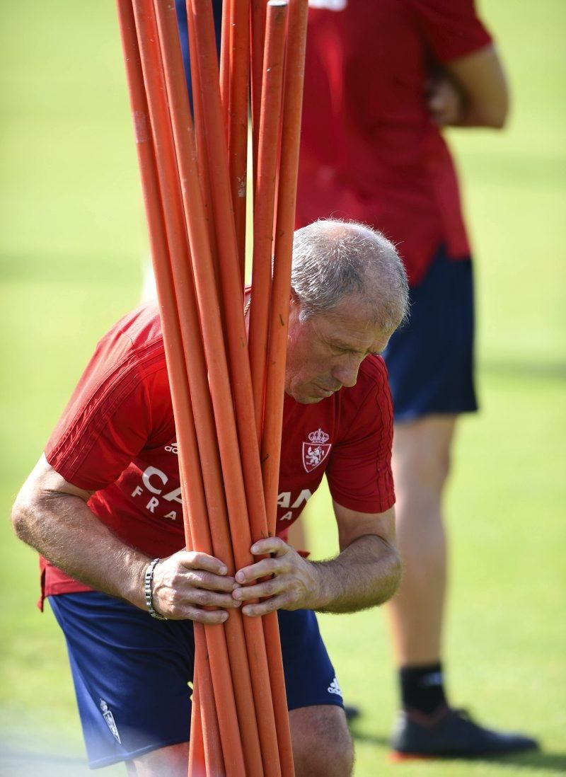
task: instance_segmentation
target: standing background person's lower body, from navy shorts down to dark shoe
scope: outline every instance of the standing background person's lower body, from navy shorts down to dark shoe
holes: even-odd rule
[[[478,726],[450,709],[444,688],[443,493],[457,416],[476,409],[470,260],[449,261],[439,249],[421,283],[411,288],[411,317],[391,337],[384,357],[395,411],[393,471],[403,560],[400,590],[387,607],[401,692],[394,751],[468,757],[534,747],[529,737]]]

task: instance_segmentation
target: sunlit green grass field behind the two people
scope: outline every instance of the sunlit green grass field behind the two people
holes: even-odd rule
[[[391,765],[391,651],[377,611],[321,618],[363,708],[356,777],[566,772],[566,4],[484,0],[513,89],[509,130],[451,136],[477,256],[481,413],[461,423],[448,512],[453,701],[540,737],[540,754]],[[100,334],[137,301],[144,215],[115,11],[0,8],[0,773],[82,774],[61,633],[9,510]],[[328,497],[315,555],[335,550]],[[123,768],[109,769],[121,774]]]

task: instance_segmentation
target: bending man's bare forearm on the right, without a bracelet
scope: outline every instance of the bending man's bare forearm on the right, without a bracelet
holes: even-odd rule
[[[319,612],[356,612],[382,605],[401,582],[397,549],[377,535],[363,535],[335,559],[311,565],[316,587],[310,607]]]

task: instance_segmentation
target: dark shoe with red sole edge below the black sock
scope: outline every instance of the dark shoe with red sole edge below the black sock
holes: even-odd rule
[[[463,709],[443,707],[433,716],[402,711],[391,737],[394,761],[406,758],[479,758],[538,749],[536,740],[478,726]]]

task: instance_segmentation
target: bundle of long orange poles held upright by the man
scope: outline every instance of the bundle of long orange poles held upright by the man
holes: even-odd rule
[[[117,6],[186,545],[234,575],[255,560],[253,542],[276,530],[307,0],[225,0],[220,68],[210,0],[187,0],[194,117],[174,3]],[[196,623],[195,647],[189,775],[293,775],[276,613],[235,609],[224,624]]]

